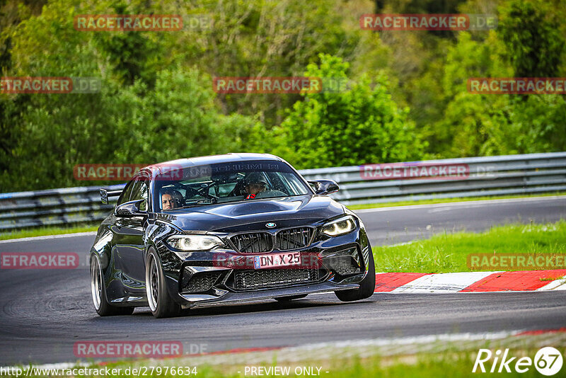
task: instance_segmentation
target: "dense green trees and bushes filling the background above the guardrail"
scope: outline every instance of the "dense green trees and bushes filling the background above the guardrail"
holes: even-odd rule
[[[98,77],[100,93],[0,93],[0,192],[85,185],[75,164],[267,151],[299,168],[566,150],[562,95],[470,77],[565,76],[564,0],[6,0],[1,76]],[[376,10],[379,7],[379,10]],[[362,13],[495,13],[497,30],[372,32]],[[74,29],[79,14],[209,18],[178,32]],[[347,78],[343,93],[217,94],[214,76]]]

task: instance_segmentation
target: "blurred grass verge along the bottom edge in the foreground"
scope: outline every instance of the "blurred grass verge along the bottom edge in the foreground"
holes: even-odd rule
[[[255,377],[257,375],[245,374],[245,367],[279,367],[289,369],[289,375],[283,377],[297,377],[294,374],[296,367],[319,367],[318,377],[344,377],[344,378],[439,378],[439,377],[478,377],[492,376],[490,373],[482,373],[480,369],[472,372],[474,362],[480,348],[492,350],[492,358],[485,362],[485,370],[489,371],[495,362],[495,350],[509,348],[509,357],[516,360],[520,357],[530,357],[531,360],[541,346],[552,345],[562,350],[566,345],[566,333],[541,333],[536,335],[509,335],[504,338],[488,338],[487,340],[442,340],[436,338],[426,343],[417,342],[408,345],[397,343],[389,345],[320,345],[320,348],[283,348],[272,351],[252,351],[226,355],[183,355],[182,357],[165,359],[132,358],[106,362],[89,362],[88,365],[75,366],[74,368],[96,369],[98,372],[90,371],[91,374],[79,374],[74,372],[74,377],[195,377],[202,378],[240,378]],[[496,368],[499,366],[496,365]],[[28,370],[29,366],[19,366],[22,370]],[[71,369],[74,369],[71,368]],[[108,368],[109,374],[100,372]],[[171,372],[175,368],[175,372]],[[187,368],[192,374],[187,374]],[[115,372],[112,372],[112,369]],[[120,370],[119,370],[120,369]],[[133,370],[136,369],[137,372]],[[167,369],[167,370],[166,370]],[[179,369],[183,374],[178,374]],[[533,365],[525,373],[518,374],[514,371],[514,362],[509,364],[511,373],[499,373],[498,376],[505,377],[541,377]],[[560,370],[560,373],[562,373]],[[125,371],[129,373],[126,374]],[[315,369],[315,372],[318,370]],[[496,370],[497,371],[497,370]],[[67,377],[68,370],[57,372],[59,377]],[[144,372],[145,374],[139,374]],[[149,374],[153,372],[154,374]],[[19,372],[22,373],[22,372]],[[26,374],[28,373],[28,374]],[[52,374],[54,372],[51,371]],[[560,373],[555,377],[562,377]],[[38,372],[37,367],[30,372],[23,372],[19,377],[45,377],[49,372]],[[92,375],[94,374],[94,375]],[[15,374],[3,374],[15,377]],[[274,375],[264,375],[264,377]],[[308,376],[308,375],[307,375]],[[306,377],[306,375],[302,375]]]

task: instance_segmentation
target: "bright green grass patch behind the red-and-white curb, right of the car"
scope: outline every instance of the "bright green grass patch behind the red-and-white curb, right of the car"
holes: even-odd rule
[[[566,221],[562,219],[550,224],[509,224],[493,227],[482,234],[445,233],[410,244],[379,246],[373,249],[378,272],[466,272],[470,270],[466,260],[470,253],[566,254]]]

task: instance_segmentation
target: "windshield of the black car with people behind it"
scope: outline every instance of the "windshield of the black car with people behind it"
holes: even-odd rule
[[[237,161],[173,169],[156,177],[156,209],[291,197],[311,193],[280,161]]]

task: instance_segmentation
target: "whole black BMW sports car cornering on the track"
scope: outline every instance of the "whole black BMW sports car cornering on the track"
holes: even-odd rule
[[[141,169],[91,248],[91,289],[101,316],[335,292],[370,297],[375,268],[364,224],[267,154],[180,159]]]

